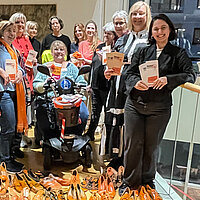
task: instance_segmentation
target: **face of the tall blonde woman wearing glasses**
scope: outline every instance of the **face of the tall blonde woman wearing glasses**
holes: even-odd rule
[[[133,25],[133,31],[139,32],[146,27],[146,6],[142,5],[138,10],[131,13],[131,22]]]

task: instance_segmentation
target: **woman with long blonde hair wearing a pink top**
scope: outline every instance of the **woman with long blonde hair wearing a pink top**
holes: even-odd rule
[[[88,21],[85,25],[85,34],[86,40],[79,44],[79,52],[83,56],[81,58],[83,64],[91,64],[94,52],[101,43],[98,38],[97,25],[93,20]]]

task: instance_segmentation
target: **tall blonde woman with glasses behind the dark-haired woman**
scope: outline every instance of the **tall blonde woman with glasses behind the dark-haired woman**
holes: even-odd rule
[[[110,69],[107,69],[104,73],[105,77],[110,80],[105,116],[105,146],[106,153],[109,153],[110,157],[114,158],[109,166],[116,169],[123,165],[123,124],[124,104],[126,101],[124,82],[126,71],[136,50],[147,45],[150,21],[151,11],[145,2],[138,1],[132,5],[128,18],[130,32],[120,37],[114,47],[116,51],[124,53],[124,65],[122,66],[121,75],[112,76],[112,70]]]

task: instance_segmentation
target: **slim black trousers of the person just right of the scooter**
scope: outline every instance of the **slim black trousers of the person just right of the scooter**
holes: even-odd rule
[[[94,132],[98,126],[99,118],[100,118],[100,114],[101,114],[101,110],[103,106],[105,110],[107,95],[108,95],[108,91],[93,89],[91,120],[90,120],[88,131],[86,133],[87,135],[90,136],[91,139],[94,139]]]

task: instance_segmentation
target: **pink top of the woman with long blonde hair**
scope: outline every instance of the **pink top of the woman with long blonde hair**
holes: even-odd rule
[[[102,42],[99,40],[98,41],[98,45],[100,43],[102,43]],[[87,40],[80,42],[80,44],[79,44],[79,52],[87,60],[92,60],[92,57],[94,55],[94,51],[91,49],[91,44]]]

